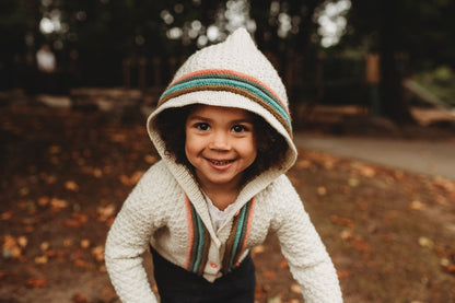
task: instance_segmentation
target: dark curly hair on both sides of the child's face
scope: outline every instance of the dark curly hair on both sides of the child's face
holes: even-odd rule
[[[160,132],[165,143],[165,153],[174,158],[176,163],[187,165],[192,172],[185,153],[185,124],[188,115],[197,105],[172,107],[160,113],[154,119],[154,128]],[[250,113],[250,112],[248,112]],[[271,168],[281,168],[289,149],[285,139],[277,132],[266,120],[250,113],[254,117],[255,137],[257,143],[257,156],[255,162],[245,171],[245,176],[250,179]]]

